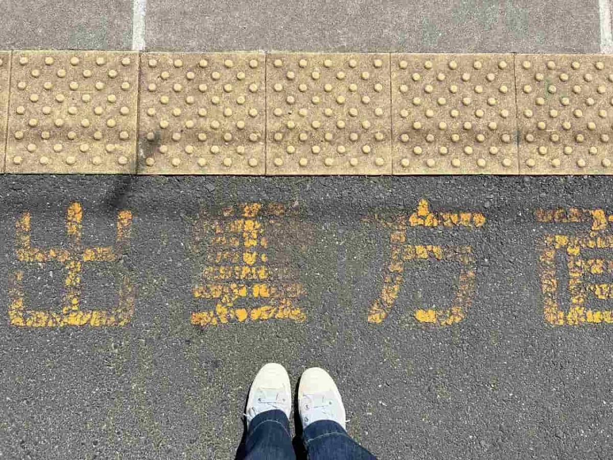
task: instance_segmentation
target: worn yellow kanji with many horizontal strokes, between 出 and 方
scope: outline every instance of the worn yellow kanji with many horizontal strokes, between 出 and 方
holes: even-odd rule
[[[193,293],[196,299],[210,299],[214,305],[211,310],[193,312],[192,324],[305,320],[295,305],[303,294],[302,286],[280,283],[270,271],[265,229],[268,221],[283,213],[280,204],[262,209],[261,203],[247,203],[224,209],[221,218],[205,218],[200,223],[199,230],[209,235],[210,257]]]

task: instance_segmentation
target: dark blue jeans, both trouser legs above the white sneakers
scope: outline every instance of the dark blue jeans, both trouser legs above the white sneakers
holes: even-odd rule
[[[376,460],[336,422],[311,423],[302,434],[310,460]],[[238,460],[295,460],[289,420],[281,410],[257,415],[249,424],[245,450]]]

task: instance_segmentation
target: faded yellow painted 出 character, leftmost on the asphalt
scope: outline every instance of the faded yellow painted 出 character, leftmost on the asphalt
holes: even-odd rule
[[[117,215],[116,242],[107,247],[83,247],[83,209],[72,203],[66,213],[67,247],[40,248],[31,245],[31,215],[23,213],[15,223],[15,253],[22,263],[40,264],[58,261],[66,270],[61,312],[32,310],[25,305],[23,292],[24,270],[13,272],[9,289],[9,321],[13,326],[32,328],[58,326],[124,326],[134,313],[134,285],[126,270],[121,272],[119,303],[110,310],[80,310],[81,273],[90,262],[118,262],[126,249],[132,223],[132,213],[122,210]]]

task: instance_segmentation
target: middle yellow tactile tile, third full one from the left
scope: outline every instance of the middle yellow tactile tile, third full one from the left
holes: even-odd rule
[[[267,174],[390,174],[389,54],[267,55]]]

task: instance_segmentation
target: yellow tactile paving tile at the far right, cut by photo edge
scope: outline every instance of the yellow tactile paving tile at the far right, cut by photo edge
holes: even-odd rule
[[[613,56],[517,55],[521,174],[613,174]]]

